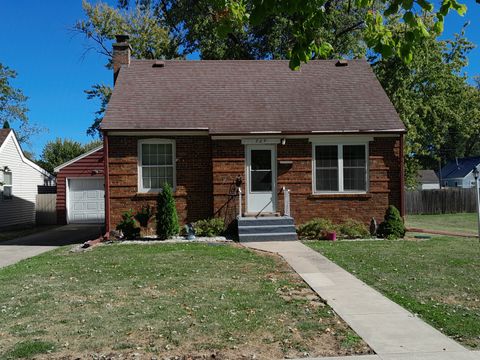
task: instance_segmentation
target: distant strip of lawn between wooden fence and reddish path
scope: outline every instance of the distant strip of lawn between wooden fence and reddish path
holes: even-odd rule
[[[477,214],[407,215],[406,225],[409,228],[455,231],[476,235]]]

